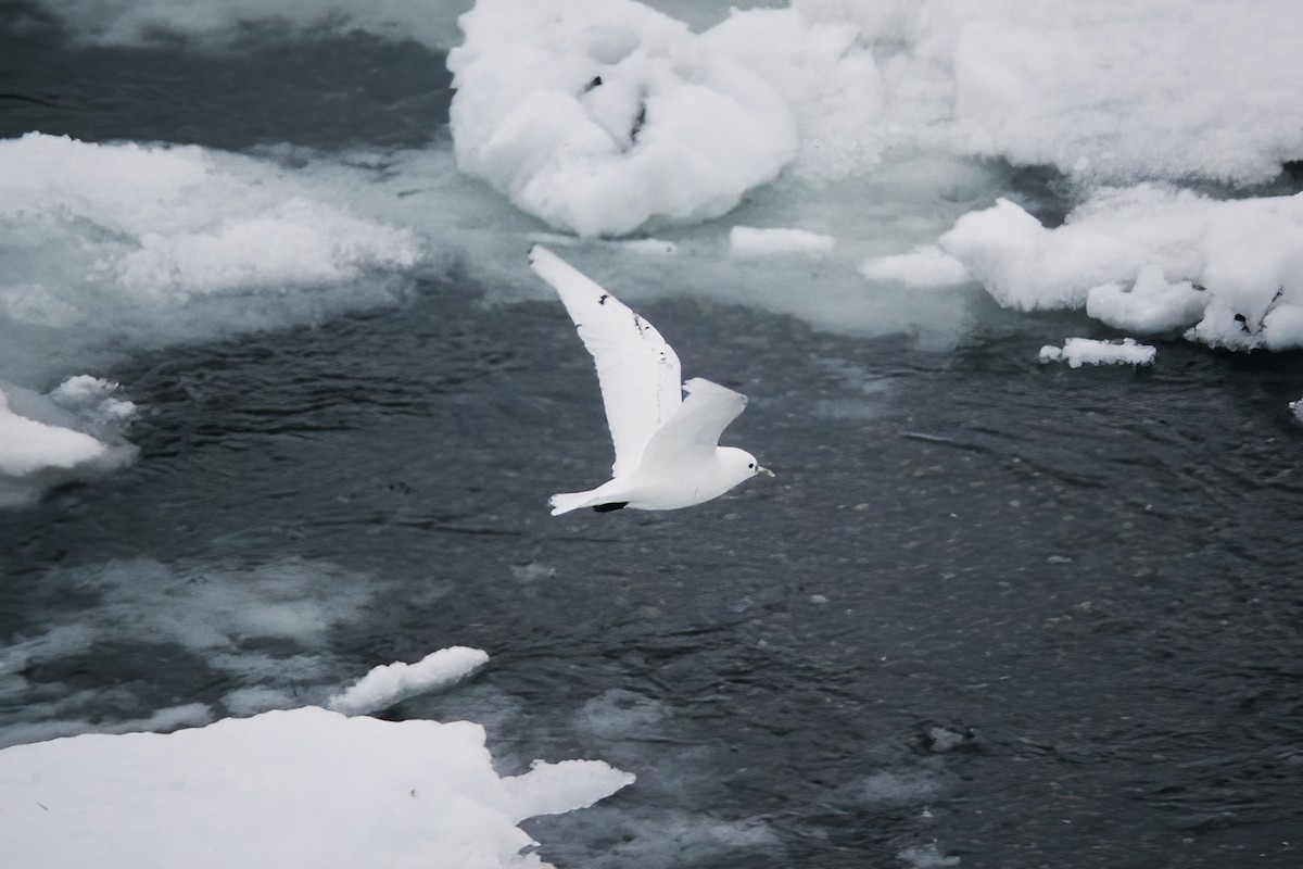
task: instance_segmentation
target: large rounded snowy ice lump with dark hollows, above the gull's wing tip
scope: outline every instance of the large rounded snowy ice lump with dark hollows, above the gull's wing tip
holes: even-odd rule
[[[764,79],[632,0],[481,0],[460,25],[457,165],[558,229],[715,218],[796,151]]]

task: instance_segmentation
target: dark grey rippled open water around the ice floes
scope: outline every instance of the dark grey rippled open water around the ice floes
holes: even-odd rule
[[[253,106],[248,124],[172,128],[146,106],[155,87],[184,103],[214,64],[261,78],[262,48],[57,50],[42,74],[59,78],[18,89],[50,106],[0,119],[5,135],[36,119],[343,143],[315,125],[328,52],[294,51],[314,72],[288,103],[309,115],[284,126]],[[349,91],[349,117],[446,98],[434,56],[348,51],[427,76],[391,108]],[[106,78],[115,99],[78,95]],[[323,582],[382,580],[327,632],[337,683],[481,648],[472,683],[391,714],[485,723],[503,773],[594,757],[638,774],[526,825],[560,866],[1300,865],[1303,469],[1285,405],[1303,358],[1171,343],[1152,371],[1041,367],[1045,335],[1091,326],[972,304],[980,326],[945,352],[645,305],[687,375],[752,396],[728,438],[779,474],[663,515],[547,516],[547,495],[610,461],[558,305],[490,306],[453,279],[315,330],[136,356],[103,375],[146,409],[137,464],[0,513],[0,637],[90,616],[94,588],[52,594],[53,573],[328,563]],[[246,687],[147,636],[23,675],[125,688],[124,718]]]

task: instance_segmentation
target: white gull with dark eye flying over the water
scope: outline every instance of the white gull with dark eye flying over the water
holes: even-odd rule
[[[560,296],[597,363],[615,443],[610,482],[552,495],[552,516],[582,507],[679,509],[773,476],[749,452],[719,446],[747,396],[701,378],[680,384],[679,357],[655,327],[546,248],[530,249],[529,266]]]

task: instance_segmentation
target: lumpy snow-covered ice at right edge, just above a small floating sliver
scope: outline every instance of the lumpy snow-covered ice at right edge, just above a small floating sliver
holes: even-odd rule
[[[1303,347],[1303,194],[1104,189],[1053,229],[1001,199],[939,245],[1006,307],[1084,307],[1117,328],[1187,330],[1214,347]]]

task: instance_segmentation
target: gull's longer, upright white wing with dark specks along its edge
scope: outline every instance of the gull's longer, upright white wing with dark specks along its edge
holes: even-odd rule
[[[652,323],[552,251],[534,245],[529,267],[562,297],[593,354],[615,442],[611,476],[620,477],[637,466],[652,433],[683,403],[679,357]]]

